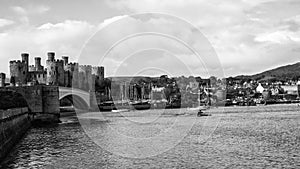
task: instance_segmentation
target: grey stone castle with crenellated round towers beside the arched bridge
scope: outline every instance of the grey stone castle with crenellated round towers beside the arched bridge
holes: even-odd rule
[[[28,53],[22,53],[22,60],[9,62],[11,85],[57,85],[94,90],[104,79],[104,67],[69,63],[68,56],[55,59],[54,52],[48,52],[46,67],[41,65],[41,58],[35,57],[35,65],[29,65]]]

